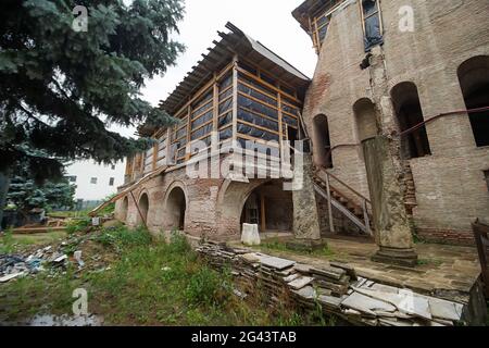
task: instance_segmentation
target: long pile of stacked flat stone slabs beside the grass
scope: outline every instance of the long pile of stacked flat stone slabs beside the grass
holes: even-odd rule
[[[240,298],[260,284],[272,306],[287,294],[303,309],[321,304],[325,313],[356,325],[464,323],[464,304],[375,283],[347,264],[325,261],[317,268],[214,243],[203,244],[197,251],[216,269],[231,266]]]

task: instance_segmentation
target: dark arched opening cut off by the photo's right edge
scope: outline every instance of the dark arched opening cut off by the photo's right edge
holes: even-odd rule
[[[459,67],[459,82],[467,109],[489,107],[489,57],[471,58]],[[489,146],[489,111],[469,113],[477,147]]]

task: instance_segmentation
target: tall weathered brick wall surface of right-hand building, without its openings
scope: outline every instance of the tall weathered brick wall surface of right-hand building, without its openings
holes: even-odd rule
[[[319,114],[327,116],[334,148],[331,172],[368,196],[362,150],[354,146],[361,141],[361,130],[353,105],[366,98],[376,108],[393,107],[390,95],[375,99],[376,77],[369,69],[360,67],[366,54],[360,3],[347,2],[331,15],[303,116],[316,145],[313,120]],[[399,10],[403,5],[414,10],[412,33],[399,29]],[[425,120],[466,110],[457,70],[471,58],[489,59],[487,2],[392,0],[381,1],[380,8],[385,42],[380,54],[389,88],[403,82],[414,83]],[[484,175],[489,167],[489,148],[476,147],[466,113],[435,120],[426,129],[431,154],[409,160],[417,202],[413,210],[414,225],[426,239],[471,243],[471,222],[489,216],[489,192]],[[391,130],[381,129],[384,134]],[[314,150],[319,162],[319,151]]]

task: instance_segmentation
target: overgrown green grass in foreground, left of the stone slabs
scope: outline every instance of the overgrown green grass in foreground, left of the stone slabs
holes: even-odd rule
[[[303,325],[334,324],[315,313],[264,306],[260,287],[243,301],[233,294],[229,269],[216,271],[185,237],[155,243],[143,228],[108,228],[95,241],[116,254],[110,270],[48,277],[47,273],[1,285],[0,322],[36,313],[70,314],[73,290],[88,291],[88,310],[115,325]],[[87,258],[88,256],[85,256]]]

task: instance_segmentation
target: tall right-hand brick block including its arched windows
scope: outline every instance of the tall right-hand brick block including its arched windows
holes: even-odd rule
[[[303,110],[315,162],[368,197],[361,141],[399,139],[415,232],[471,243],[489,216],[489,113],[464,112],[489,107],[487,1],[308,0],[293,15],[318,53]]]

